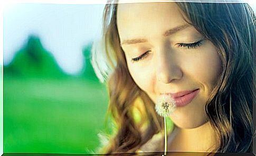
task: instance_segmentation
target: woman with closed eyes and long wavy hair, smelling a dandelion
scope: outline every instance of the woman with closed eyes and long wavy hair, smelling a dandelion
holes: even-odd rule
[[[92,64],[117,131],[101,152],[163,151],[154,108],[166,94],[177,104],[168,151],[252,152],[254,35],[248,4],[107,4]]]

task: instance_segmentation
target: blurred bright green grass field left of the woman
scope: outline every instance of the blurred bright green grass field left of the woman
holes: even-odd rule
[[[93,153],[106,86],[79,78],[4,77],[4,152]]]

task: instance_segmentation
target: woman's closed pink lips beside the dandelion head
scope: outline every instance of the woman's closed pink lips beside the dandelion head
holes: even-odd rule
[[[165,94],[172,96],[172,98],[176,102],[177,107],[182,107],[187,105],[189,102],[191,102],[198,92],[199,92],[199,89],[195,89],[192,91],[181,91],[177,93],[165,93]]]

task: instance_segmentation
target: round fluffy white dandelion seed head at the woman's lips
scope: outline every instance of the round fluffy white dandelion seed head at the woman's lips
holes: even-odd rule
[[[168,117],[176,109],[175,100],[168,95],[161,95],[157,98],[155,109],[159,116]]]

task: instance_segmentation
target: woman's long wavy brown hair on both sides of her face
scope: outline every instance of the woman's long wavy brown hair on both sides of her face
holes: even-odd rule
[[[252,9],[244,3],[177,5],[187,22],[212,41],[222,60],[222,74],[205,106],[208,120],[219,140],[215,151],[252,152],[252,103],[256,88],[253,83],[255,16]],[[117,132],[102,149],[104,153],[135,152],[163,129],[163,119],[156,115],[154,102],[129,74],[117,30],[117,6],[114,3],[105,6],[103,47],[94,49],[92,54],[94,70],[99,77],[107,79],[108,111],[117,124]],[[99,56],[105,57],[108,68],[101,68]],[[134,108],[138,108],[137,99],[142,101],[139,105],[140,122],[135,121],[132,113]]]

